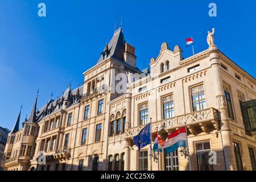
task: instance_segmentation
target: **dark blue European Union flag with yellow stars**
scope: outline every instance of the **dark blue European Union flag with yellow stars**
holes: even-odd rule
[[[150,144],[150,123],[148,123],[141,131],[139,131],[139,134],[133,137],[133,140],[135,145],[139,148],[139,151],[141,148]]]

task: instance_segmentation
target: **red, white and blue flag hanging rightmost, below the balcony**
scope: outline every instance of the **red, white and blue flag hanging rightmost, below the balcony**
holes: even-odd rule
[[[179,147],[187,147],[187,133],[185,127],[171,133],[164,144],[167,154],[174,152]]]

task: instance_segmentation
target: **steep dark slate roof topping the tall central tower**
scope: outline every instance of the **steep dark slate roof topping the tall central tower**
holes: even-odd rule
[[[123,52],[125,51],[125,38],[123,36],[122,28],[118,28],[114,32],[114,35],[110,42],[105,46],[104,52],[108,52],[108,56],[105,57],[114,57],[117,60],[123,61]],[[104,60],[103,54],[101,55],[100,59],[98,60],[98,63],[101,63],[101,61]]]

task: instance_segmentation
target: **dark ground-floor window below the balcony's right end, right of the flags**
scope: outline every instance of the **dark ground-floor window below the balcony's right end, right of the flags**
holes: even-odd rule
[[[196,143],[196,158],[199,171],[212,171],[213,166],[209,164],[210,142]]]

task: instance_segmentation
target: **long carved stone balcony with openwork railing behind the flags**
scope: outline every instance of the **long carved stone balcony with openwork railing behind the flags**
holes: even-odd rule
[[[218,110],[214,108],[195,111],[193,113],[180,115],[174,118],[164,119],[162,121],[152,122],[152,133],[158,130],[176,130],[184,127],[185,123],[189,132],[196,135],[201,131],[208,133],[210,129],[218,130]],[[132,138],[142,130],[144,126],[137,126],[125,130],[125,138]]]

